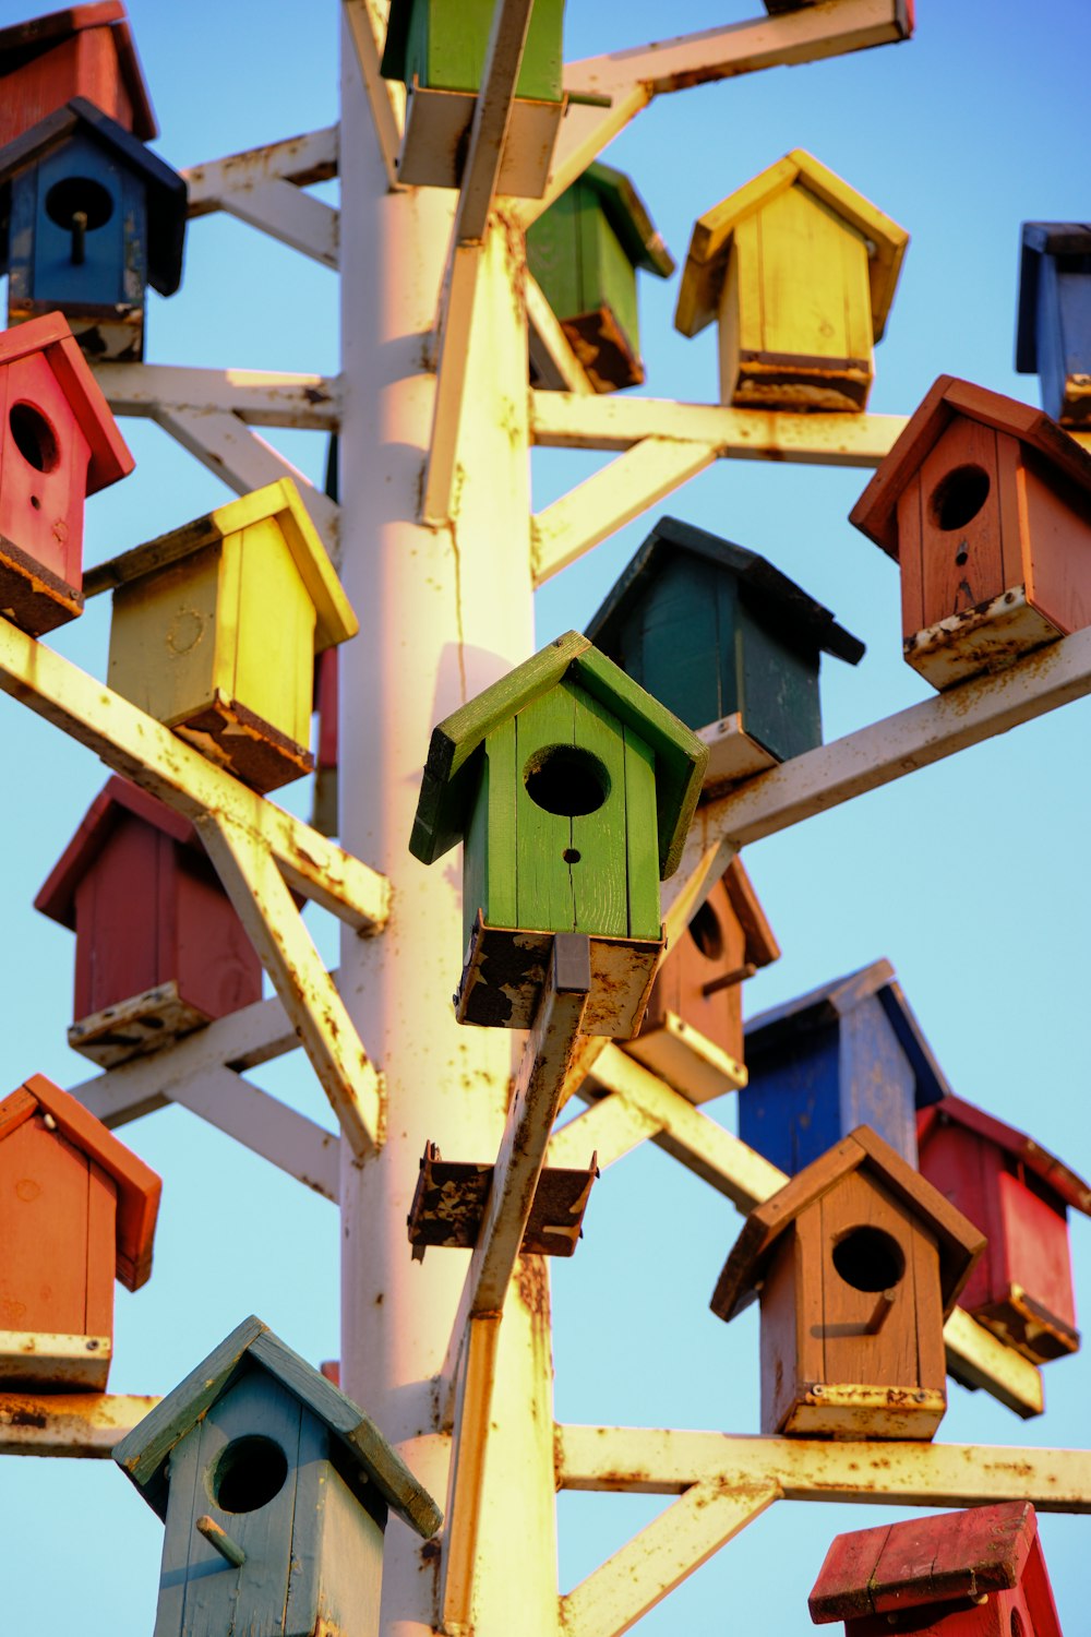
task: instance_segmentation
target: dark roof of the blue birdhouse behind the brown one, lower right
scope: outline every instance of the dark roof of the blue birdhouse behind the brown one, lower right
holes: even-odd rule
[[[833,984],[823,984],[780,1007],[759,1012],[746,1025],[746,1061],[757,1067],[765,1053],[775,1051],[792,1039],[803,1043],[815,1030],[836,1023],[870,995],[878,997],[898,1044],[909,1059],[916,1080],[916,1107],[921,1108],[924,1103],[949,1097],[947,1076],[932,1056],[932,1048],[924,1038],[890,961],[872,961],[859,972],[836,977]],[[801,1049],[805,1049],[803,1044]]]

